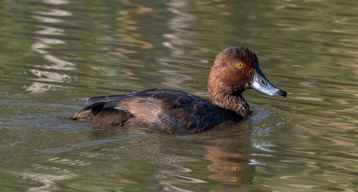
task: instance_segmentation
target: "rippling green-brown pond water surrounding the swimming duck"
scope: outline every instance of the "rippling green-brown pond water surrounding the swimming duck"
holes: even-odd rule
[[[1,191],[357,191],[357,1],[0,2]],[[250,47],[287,98],[167,135],[67,120],[74,98],[208,99],[213,57]]]

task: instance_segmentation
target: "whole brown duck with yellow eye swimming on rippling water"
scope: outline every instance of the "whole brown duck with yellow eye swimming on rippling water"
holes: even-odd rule
[[[208,76],[209,102],[187,92],[146,89],[122,95],[84,97],[92,103],[70,120],[139,126],[167,133],[207,131],[223,122],[237,122],[250,113],[242,93],[255,89],[271,96],[287,92],[263,75],[257,56],[245,47],[228,47],[216,55]]]

